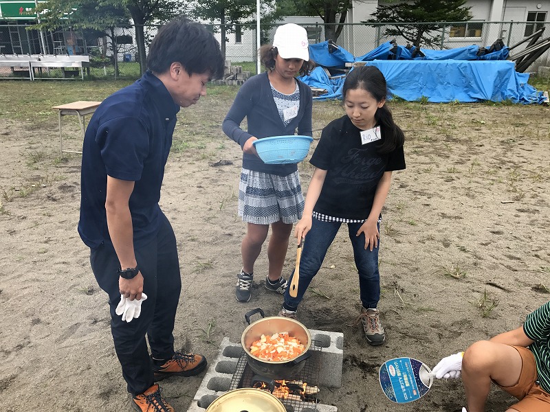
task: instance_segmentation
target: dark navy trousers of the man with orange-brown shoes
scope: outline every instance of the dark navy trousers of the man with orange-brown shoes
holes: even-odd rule
[[[135,249],[137,266],[144,277],[143,291],[147,299],[142,303],[140,317],[130,323],[115,314],[120,302],[117,268],[120,262],[112,245],[102,244],[91,249],[91,269],[102,288],[109,295],[111,333],[115,343],[122,376],[133,395],[143,393],[153,385],[153,369],[148,353],[157,359],[171,358],[174,354],[175,314],[181,292],[181,277],[174,231],[164,214],[159,232],[144,247]]]

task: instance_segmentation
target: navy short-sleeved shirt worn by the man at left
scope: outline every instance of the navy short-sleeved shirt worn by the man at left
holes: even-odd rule
[[[160,187],[179,106],[147,71],[140,80],[105,99],[84,137],[78,233],[91,248],[111,242],[105,200],[107,175],[134,181],[129,207],[134,247],[158,231]]]

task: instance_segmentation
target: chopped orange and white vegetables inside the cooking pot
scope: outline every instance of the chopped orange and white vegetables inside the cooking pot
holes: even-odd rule
[[[263,361],[290,361],[304,352],[305,345],[288,332],[278,332],[271,336],[263,334],[250,345],[250,353]]]

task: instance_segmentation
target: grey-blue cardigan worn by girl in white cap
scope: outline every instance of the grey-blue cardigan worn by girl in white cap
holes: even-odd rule
[[[270,80],[265,71],[248,79],[241,86],[221,125],[223,132],[241,145],[241,148],[252,136],[261,139],[270,136],[294,135],[296,128],[298,128],[298,135],[311,136],[311,106],[313,105],[311,89],[298,79],[296,82],[300,90],[300,108],[298,115],[287,126],[277,111]],[[247,131],[241,129],[241,122],[245,117],[248,122]],[[256,155],[243,153],[243,168],[287,176],[296,172],[298,165],[294,163],[267,165]]]

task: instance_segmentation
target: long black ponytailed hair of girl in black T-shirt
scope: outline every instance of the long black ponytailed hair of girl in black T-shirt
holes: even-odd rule
[[[386,78],[384,78],[382,71],[374,66],[355,67],[348,73],[342,87],[343,100],[346,100],[348,90],[356,89],[368,91],[379,103],[388,96]],[[376,124],[382,126],[382,141],[377,146],[379,153],[386,154],[403,146],[405,141],[403,130],[393,122],[393,116],[386,104],[377,109],[374,118]]]

